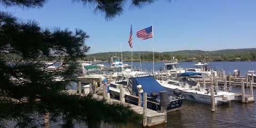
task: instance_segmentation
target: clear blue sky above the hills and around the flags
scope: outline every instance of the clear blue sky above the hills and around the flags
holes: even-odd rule
[[[256,1],[175,0],[156,1],[142,9],[130,9],[113,21],[94,13],[93,6],[71,0],[50,0],[40,9],[6,8],[21,21],[35,20],[41,27],[84,30],[90,38],[88,54],[131,51],[128,39],[133,25],[133,51],[214,51],[256,47]],[[141,40],[136,32],[154,27],[154,38]]]

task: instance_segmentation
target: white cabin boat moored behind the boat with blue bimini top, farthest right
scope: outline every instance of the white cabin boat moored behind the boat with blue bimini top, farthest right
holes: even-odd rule
[[[196,63],[193,68],[188,68],[186,71],[201,73],[201,77],[210,77],[212,73],[214,74],[214,76],[217,76],[217,71],[211,69],[208,63],[202,62]]]

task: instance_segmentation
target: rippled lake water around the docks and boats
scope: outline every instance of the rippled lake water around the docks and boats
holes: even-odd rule
[[[131,65],[131,62],[127,62]],[[193,67],[195,62],[180,62],[183,68]],[[234,69],[240,71],[244,76],[249,70],[256,71],[256,62],[210,62],[210,66],[217,71],[225,70],[226,75],[233,74]],[[142,62],[142,70],[151,71],[153,62]],[[133,62],[133,66],[140,67],[139,62]],[[163,62],[155,62],[155,71]],[[241,87],[233,87],[232,92],[241,93]],[[245,93],[249,93],[249,88],[245,87]],[[253,91],[256,94],[256,89]],[[255,96],[254,96],[255,99]],[[137,123],[129,123],[126,127],[141,127]],[[239,103],[233,101],[228,105],[215,107],[215,112],[211,112],[211,105],[184,101],[180,110],[169,113],[167,124],[154,127],[256,127],[256,107],[253,103]]]

